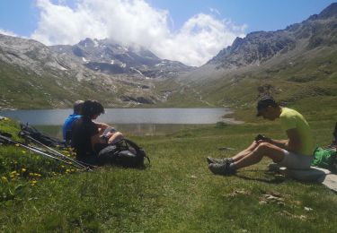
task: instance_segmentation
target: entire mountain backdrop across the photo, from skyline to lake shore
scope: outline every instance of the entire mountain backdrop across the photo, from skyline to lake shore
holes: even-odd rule
[[[265,94],[295,105],[331,101],[337,90],[336,35],[337,4],[331,4],[284,30],[236,38],[200,67],[110,39],[47,47],[0,35],[0,108],[66,108],[86,98],[107,107],[252,108]]]

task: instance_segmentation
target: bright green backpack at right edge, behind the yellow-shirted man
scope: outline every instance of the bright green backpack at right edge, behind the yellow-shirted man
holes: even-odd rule
[[[337,171],[337,152],[332,148],[317,147],[311,165]]]

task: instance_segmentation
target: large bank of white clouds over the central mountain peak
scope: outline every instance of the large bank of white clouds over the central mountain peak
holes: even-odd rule
[[[245,25],[204,13],[194,15],[181,30],[173,32],[169,12],[155,9],[144,0],[77,0],[73,8],[67,1],[58,3],[37,0],[40,22],[32,39],[55,45],[109,38],[123,45],[147,47],[161,58],[202,65],[235,37],[244,36]]]

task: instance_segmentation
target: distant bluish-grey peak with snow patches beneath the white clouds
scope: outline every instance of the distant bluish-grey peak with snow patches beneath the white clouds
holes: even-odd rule
[[[123,47],[109,39],[84,39],[74,46],[53,46],[96,72],[137,74],[147,78],[175,77],[193,67],[160,59],[144,47]]]

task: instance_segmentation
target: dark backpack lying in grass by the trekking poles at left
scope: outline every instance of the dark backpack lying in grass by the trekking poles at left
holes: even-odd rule
[[[53,146],[53,147],[66,147],[65,142],[57,139],[50,137],[49,135],[42,134],[40,133],[39,130],[37,130],[35,127],[32,125],[20,125],[21,126],[21,131],[19,132],[19,136],[26,140],[30,140],[30,137],[33,138],[34,140],[43,143],[46,146]]]

